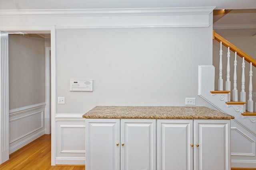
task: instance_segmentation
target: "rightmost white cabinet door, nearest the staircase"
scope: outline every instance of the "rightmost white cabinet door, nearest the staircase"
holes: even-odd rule
[[[194,170],[230,170],[230,120],[194,120]]]

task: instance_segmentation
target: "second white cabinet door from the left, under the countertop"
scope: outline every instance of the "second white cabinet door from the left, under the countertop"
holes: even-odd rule
[[[156,170],[156,119],[121,119],[121,170]]]

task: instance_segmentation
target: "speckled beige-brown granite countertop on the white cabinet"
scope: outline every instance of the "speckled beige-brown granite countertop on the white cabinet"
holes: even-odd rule
[[[111,119],[234,119],[234,116],[198,106],[96,106],[84,118]]]

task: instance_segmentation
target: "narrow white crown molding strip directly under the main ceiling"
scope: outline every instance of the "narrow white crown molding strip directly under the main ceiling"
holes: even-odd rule
[[[206,15],[215,7],[194,8],[115,8],[61,10],[0,10],[0,17],[67,17],[67,16],[158,16]]]

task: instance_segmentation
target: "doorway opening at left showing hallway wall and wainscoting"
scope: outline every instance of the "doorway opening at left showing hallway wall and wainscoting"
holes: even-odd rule
[[[50,34],[8,34],[11,154],[50,134]]]

